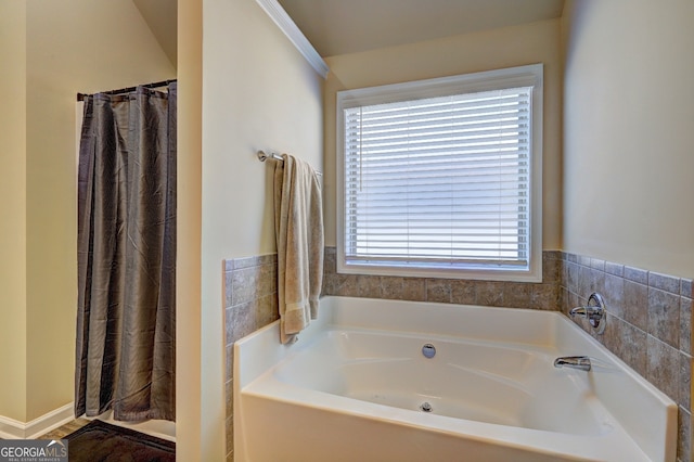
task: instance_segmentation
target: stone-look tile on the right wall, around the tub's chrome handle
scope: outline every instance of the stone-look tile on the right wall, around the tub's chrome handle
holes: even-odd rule
[[[690,461],[692,415],[692,280],[597,258],[562,254],[560,310],[605,298],[607,320],[595,335],[577,323],[679,407],[678,460]]]

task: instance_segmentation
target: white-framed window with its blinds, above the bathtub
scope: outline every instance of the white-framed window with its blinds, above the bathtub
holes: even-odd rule
[[[338,272],[541,280],[542,65],[337,93]]]

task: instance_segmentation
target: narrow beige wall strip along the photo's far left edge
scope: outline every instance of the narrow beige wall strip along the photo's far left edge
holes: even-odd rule
[[[0,416],[26,420],[26,3],[0,1]]]

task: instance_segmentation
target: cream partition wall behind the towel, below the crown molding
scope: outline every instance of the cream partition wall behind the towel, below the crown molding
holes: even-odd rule
[[[322,169],[322,79],[255,0],[205,1],[202,21],[200,369],[195,358],[181,364],[194,374],[185,382],[200,381],[200,395],[179,400],[184,413],[198,406],[200,433],[185,433],[179,447],[187,460],[214,461],[226,455],[222,261],[275,252],[271,165],[257,150],[292,153]],[[194,67],[180,51],[179,63]],[[194,188],[194,178],[185,181]],[[195,204],[183,207],[179,202],[179,217],[194,220]]]

